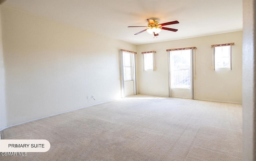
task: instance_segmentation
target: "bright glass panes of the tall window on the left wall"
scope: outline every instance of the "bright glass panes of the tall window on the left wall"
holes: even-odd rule
[[[123,52],[124,81],[132,81],[132,55]]]

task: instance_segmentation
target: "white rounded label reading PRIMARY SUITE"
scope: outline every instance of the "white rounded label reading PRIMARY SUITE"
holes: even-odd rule
[[[50,142],[44,139],[0,140],[0,152],[46,152],[50,147]]]

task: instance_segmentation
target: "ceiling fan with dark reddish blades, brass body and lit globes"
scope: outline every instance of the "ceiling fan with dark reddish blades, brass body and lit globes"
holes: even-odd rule
[[[159,24],[159,22],[154,20],[154,19],[147,19],[147,20],[148,20],[148,26],[128,26],[128,27],[149,27],[147,29],[144,29],[144,30],[138,32],[138,33],[135,33],[134,35],[138,35],[139,33],[147,31],[150,34],[154,33],[154,36],[158,36],[159,35],[158,33],[162,29],[165,29],[165,30],[168,30],[168,31],[174,31],[174,32],[178,31],[178,29],[162,27],[162,26],[166,26],[166,25],[178,24],[179,23],[178,21],[172,21],[172,22],[166,22],[166,23],[163,23],[163,24]]]

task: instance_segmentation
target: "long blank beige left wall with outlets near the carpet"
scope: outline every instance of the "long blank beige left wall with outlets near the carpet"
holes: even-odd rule
[[[135,45],[4,6],[1,19],[0,129],[120,98],[120,49]]]

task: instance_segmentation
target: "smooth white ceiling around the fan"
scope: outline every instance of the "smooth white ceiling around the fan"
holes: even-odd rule
[[[135,45],[242,30],[242,0],[5,0],[3,6],[28,12]],[[156,19],[177,32],[146,31]]]

